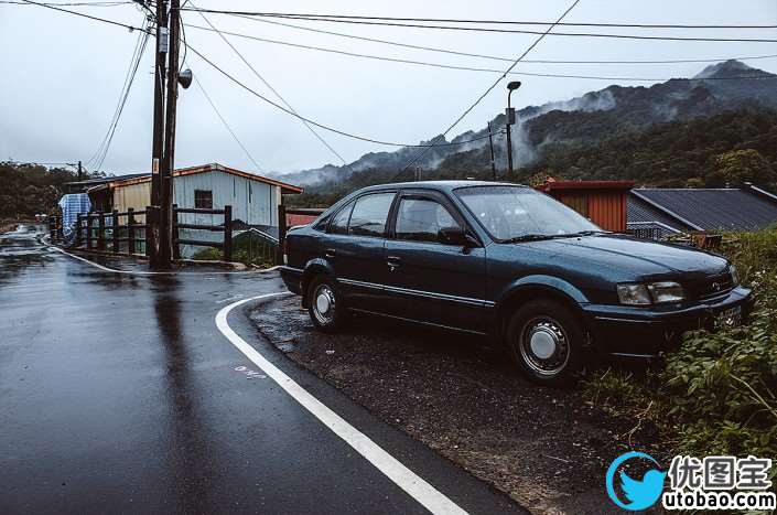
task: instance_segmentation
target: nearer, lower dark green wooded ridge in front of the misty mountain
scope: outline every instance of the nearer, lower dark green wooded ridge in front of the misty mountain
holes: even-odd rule
[[[584,112],[566,112],[570,118]],[[412,180],[413,171],[370,169],[348,180],[309,189],[298,199],[301,205],[328,205],[342,195],[388,181]],[[557,179],[632,179],[637,185],[665,187],[720,187],[752,181],[777,191],[777,111],[742,109],[688,121],[671,121],[647,129],[617,133],[601,141],[547,143],[530,165],[512,175],[500,171],[499,180],[536,183]],[[435,170],[423,170],[422,179],[492,179],[482,152],[457,153]]]

